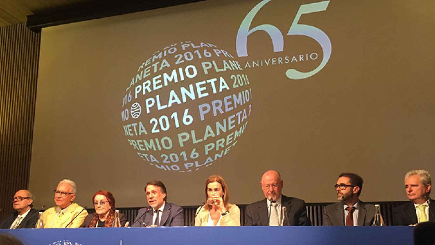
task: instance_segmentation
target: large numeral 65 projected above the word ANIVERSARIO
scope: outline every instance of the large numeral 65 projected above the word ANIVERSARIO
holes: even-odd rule
[[[255,15],[266,3],[270,1],[271,0],[261,1],[251,11],[249,11],[249,13],[243,19],[236,38],[236,49],[237,55],[239,57],[248,56],[248,50],[246,46],[248,36],[257,30],[264,30],[269,34],[272,39],[274,52],[281,52],[284,49],[284,37],[282,37],[281,31],[277,27],[270,24],[263,24],[249,30],[249,27],[251,26],[252,20],[254,19]],[[307,77],[311,77],[312,75],[318,73],[326,65],[326,63],[328,63],[329,57],[331,57],[331,40],[329,40],[328,35],[326,35],[325,32],[317,27],[298,24],[302,14],[325,11],[328,7],[328,4],[329,1],[323,1],[318,3],[301,5],[298,13],[296,14],[296,17],[294,17],[293,23],[291,24],[287,35],[303,35],[316,40],[323,50],[323,59],[317,68],[309,72],[301,72],[295,69],[288,69],[285,72],[288,78],[304,79]]]

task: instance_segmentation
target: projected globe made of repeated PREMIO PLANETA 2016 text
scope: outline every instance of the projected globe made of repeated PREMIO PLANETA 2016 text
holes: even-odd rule
[[[121,121],[131,154],[161,171],[225,162],[251,115],[251,80],[233,55],[208,42],[170,44],[128,78]]]

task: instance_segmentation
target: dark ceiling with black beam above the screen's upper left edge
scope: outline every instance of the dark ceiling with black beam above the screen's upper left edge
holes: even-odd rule
[[[171,7],[203,0],[0,0],[0,27],[27,22],[39,32],[83,20]]]

